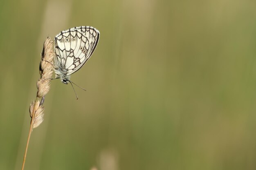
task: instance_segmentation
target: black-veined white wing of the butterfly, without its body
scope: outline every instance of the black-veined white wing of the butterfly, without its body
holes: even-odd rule
[[[79,26],[61,31],[55,37],[55,64],[66,75],[78,71],[91,57],[99,41],[99,31],[92,26]]]

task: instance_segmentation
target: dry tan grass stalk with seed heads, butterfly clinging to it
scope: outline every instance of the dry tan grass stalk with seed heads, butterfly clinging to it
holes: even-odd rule
[[[31,117],[30,122],[30,128],[29,128],[29,135],[27,138],[27,145],[25,149],[25,154],[23,158],[22,163],[22,170],[24,170],[26,156],[27,156],[27,148],[29,145],[29,139],[31,136],[31,132],[33,128],[38,127],[43,122],[43,103],[45,100],[45,95],[48,93],[50,89],[50,82],[51,82],[51,76],[53,72],[53,65],[51,64],[54,58],[54,51],[53,51],[53,41],[51,38],[46,38],[44,46],[43,46],[43,52],[41,54],[41,62],[39,66],[40,71],[40,79],[38,79],[36,85],[37,85],[37,94],[36,94],[36,100],[32,101],[29,108],[29,113]]]

